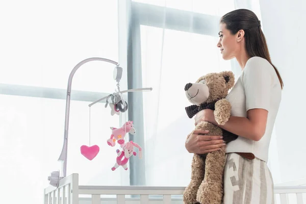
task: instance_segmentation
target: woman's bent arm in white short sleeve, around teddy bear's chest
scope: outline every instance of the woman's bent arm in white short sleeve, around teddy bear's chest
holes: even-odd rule
[[[208,113],[199,114],[199,118],[241,137],[259,141],[266,131],[268,110],[271,107],[271,87],[278,81],[275,74],[272,77],[273,72],[273,66],[263,58],[254,57],[248,60],[241,74],[246,117],[231,116],[224,125],[218,125],[213,111],[207,110]]]

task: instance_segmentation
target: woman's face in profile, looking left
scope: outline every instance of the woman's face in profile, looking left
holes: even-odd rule
[[[226,25],[224,23],[220,24],[220,39],[217,47],[220,48],[224,60],[231,60],[237,56],[240,40],[238,34],[231,34],[230,30],[227,30],[225,27]]]

